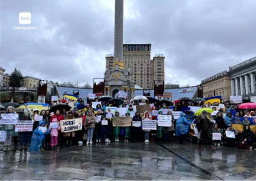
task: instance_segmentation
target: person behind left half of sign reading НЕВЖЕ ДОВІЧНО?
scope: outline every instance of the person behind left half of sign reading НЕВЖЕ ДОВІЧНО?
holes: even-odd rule
[[[52,116],[54,117],[54,116]],[[75,119],[74,113],[72,111],[68,111],[67,115],[65,117],[65,120],[67,119]],[[61,133],[62,134],[62,142],[61,146],[64,145],[65,147],[71,147],[71,141],[74,141],[74,138],[76,136],[76,131],[72,131],[69,133]]]

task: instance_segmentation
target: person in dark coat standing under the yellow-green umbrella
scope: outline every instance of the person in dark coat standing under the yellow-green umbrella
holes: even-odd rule
[[[209,149],[214,149],[212,144],[212,122],[209,119],[207,112],[204,110],[196,119],[196,127],[198,128],[198,148],[201,149],[201,141],[207,141]]]

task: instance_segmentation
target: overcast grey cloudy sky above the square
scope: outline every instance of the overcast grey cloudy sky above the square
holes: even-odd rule
[[[124,0],[124,43],[163,54],[165,83],[198,85],[256,56],[255,10],[244,0]],[[114,0],[2,0],[0,66],[92,85],[114,52],[114,11]],[[36,30],[13,30],[20,12],[31,13]]]

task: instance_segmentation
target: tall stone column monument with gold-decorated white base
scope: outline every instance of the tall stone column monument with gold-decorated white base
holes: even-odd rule
[[[134,97],[134,82],[131,72],[124,68],[123,63],[123,27],[124,27],[124,0],[115,0],[115,59],[113,68],[104,73],[106,96],[117,96],[118,91],[127,92],[127,98]]]

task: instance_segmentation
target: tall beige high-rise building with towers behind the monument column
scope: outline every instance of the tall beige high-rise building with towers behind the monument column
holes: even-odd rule
[[[154,82],[164,81],[164,56],[151,56],[151,44],[124,44],[124,67],[131,71],[131,82],[143,89],[154,89]],[[113,68],[114,55],[106,55],[106,69]]]

